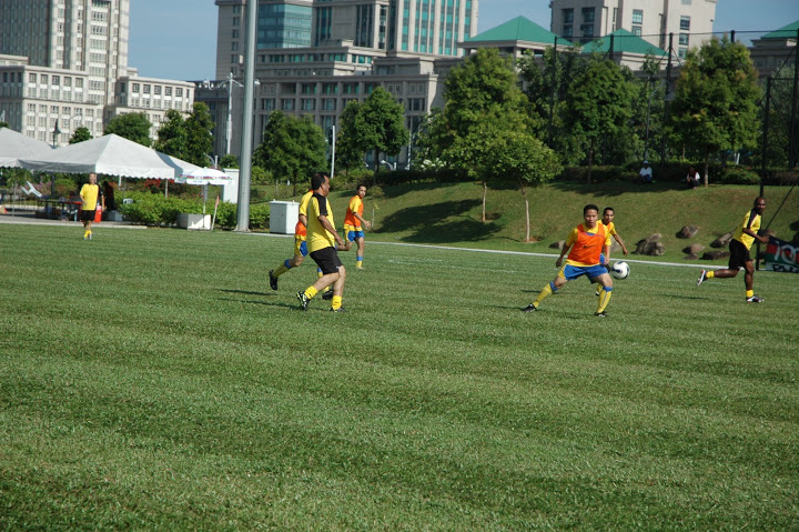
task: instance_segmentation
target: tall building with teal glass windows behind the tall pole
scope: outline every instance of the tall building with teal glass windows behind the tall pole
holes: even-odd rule
[[[246,2],[215,0],[219,80],[243,73]],[[465,54],[458,43],[476,33],[477,7],[477,0],[259,0],[255,142],[274,110],[312,117],[328,132],[347,102],[363,101],[376,87],[405,106],[413,131],[443,104],[439,78]],[[219,91],[226,83],[205,86]],[[235,131],[243,91],[233,91]],[[214,100],[213,91],[204,92]],[[209,102],[221,103],[219,97]],[[237,153],[239,139],[232,140]]]

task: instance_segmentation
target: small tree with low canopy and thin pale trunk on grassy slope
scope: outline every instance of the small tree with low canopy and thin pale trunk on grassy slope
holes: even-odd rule
[[[525,242],[530,241],[527,187],[550,181],[562,170],[557,154],[529,132],[496,131],[488,142],[484,180],[503,180],[516,184],[525,201]]]

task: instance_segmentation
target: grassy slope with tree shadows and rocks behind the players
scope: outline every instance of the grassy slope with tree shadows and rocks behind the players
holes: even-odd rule
[[[768,207],[763,224],[777,212],[788,190],[766,190]],[[640,187],[619,182],[594,185],[569,182],[529,189],[530,234],[539,240],[537,243],[522,242],[524,201],[515,189],[488,191],[486,210],[490,221],[486,223],[479,221],[483,189],[477,183],[373,189],[367,193],[364,215],[371,219],[372,208],[377,207],[376,231],[368,235],[374,240],[552,252],[548,245],[565,239],[581,221],[583,207],[596,203],[600,209],[608,205],[616,209],[616,227],[630,252],[638,240],[659,232],[666,247],[664,258],[681,260],[682,248],[701,243],[710,250],[710,242],[734,230],[758,192],[757,187],[687,191],[668,183]],[[351,191],[331,194],[340,225],[351,195]],[[691,240],[677,239],[676,233],[684,225],[700,229]],[[790,195],[771,229],[785,240],[791,240],[799,230],[799,192]]]

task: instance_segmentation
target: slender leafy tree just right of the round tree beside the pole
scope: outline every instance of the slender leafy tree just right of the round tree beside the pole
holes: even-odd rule
[[[404,116],[403,104],[382,87],[377,87],[366,98],[355,116],[357,145],[364,152],[374,151],[375,175],[381,153],[396,155],[407,145],[408,131],[403,124]]]

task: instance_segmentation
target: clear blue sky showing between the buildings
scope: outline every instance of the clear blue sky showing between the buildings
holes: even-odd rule
[[[478,31],[519,14],[549,29],[549,0],[482,0]],[[133,0],[129,64],[149,78],[213,79],[216,16],[214,0]],[[799,0],[718,0],[714,30],[771,31],[798,19]]]

